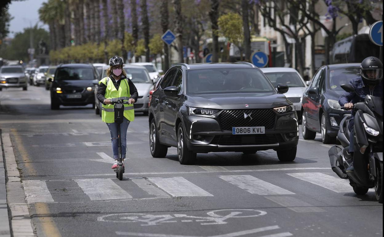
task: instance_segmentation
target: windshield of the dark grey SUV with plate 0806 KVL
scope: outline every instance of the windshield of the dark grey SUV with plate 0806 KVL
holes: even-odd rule
[[[273,93],[267,78],[254,68],[211,68],[187,71],[187,92],[212,93]]]

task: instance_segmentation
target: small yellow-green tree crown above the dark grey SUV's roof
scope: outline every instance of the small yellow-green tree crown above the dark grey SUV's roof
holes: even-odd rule
[[[231,43],[240,46],[244,39],[242,17],[236,13],[227,13],[218,18],[219,33]]]

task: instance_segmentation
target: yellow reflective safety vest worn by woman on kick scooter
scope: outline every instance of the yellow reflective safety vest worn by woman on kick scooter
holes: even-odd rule
[[[110,80],[112,79],[109,77],[104,77],[99,81],[99,85],[100,83],[103,83],[104,85],[107,86],[104,97],[106,99],[117,98],[119,100],[124,99],[124,101],[128,101],[128,99],[131,97],[131,93],[129,93],[129,86],[128,86],[127,79],[125,78],[120,79],[124,81],[121,81],[119,90],[116,89],[116,87],[113,85],[113,82]],[[131,122],[135,119],[133,104],[124,104],[124,117]],[[115,113],[114,113],[113,104],[103,104],[103,108],[101,108],[101,119],[105,123],[115,122]]]

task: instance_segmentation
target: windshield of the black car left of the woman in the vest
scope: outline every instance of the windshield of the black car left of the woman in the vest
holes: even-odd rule
[[[93,68],[62,67],[56,70],[55,80],[94,80]]]

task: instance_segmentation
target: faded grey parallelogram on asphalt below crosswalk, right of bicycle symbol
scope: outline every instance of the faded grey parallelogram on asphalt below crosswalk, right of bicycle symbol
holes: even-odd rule
[[[266,199],[276,202],[277,204],[287,207],[294,212],[325,212],[325,210],[315,207],[307,202],[301,201],[296,197],[291,196],[271,196],[265,197]]]

